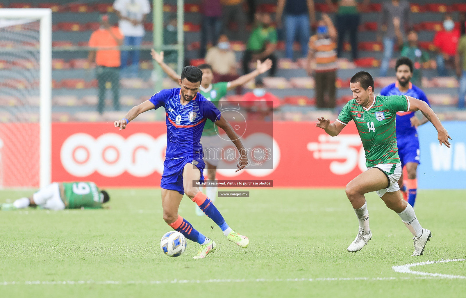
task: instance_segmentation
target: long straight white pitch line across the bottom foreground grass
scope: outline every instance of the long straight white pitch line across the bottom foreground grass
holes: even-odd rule
[[[72,285],[72,284],[205,284],[205,283],[255,283],[255,282],[319,282],[319,281],[382,281],[382,280],[407,280],[407,279],[440,279],[438,277],[317,277],[317,278],[256,278],[256,279],[206,279],[206,280],[130,280],[130,281],[94,281],[94,280],[68,280],[68,281],[25,281],[25,282],[0,282],[0,285]]]

